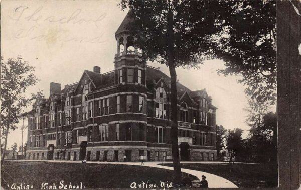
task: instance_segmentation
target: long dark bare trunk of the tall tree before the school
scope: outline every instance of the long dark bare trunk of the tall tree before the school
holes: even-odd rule
[[[177,108],[177,74],[175,66],[174,53],[174,30],[173,30],[173,12],[170,9],[168,13],[168,65],[171,75],[171,141],[172,141],[172,155],[174,165],[174,182],[181,182],[181,165],[179,159],[179,145],[178,145],[178,108]]]

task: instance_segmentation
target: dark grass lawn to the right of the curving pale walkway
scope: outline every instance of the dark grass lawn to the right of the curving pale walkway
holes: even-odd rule
[[[160,164],[172,166],[172,164]],[[181,168],[204,171],[221,176],[240,188],[277,187],[277,170],[264,164],[181,164]],[[208,181],[208,183],[214,181]]]

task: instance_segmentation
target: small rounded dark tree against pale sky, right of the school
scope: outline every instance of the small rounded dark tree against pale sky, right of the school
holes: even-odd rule
[[[244,148],[244,141],[242,139],[243,130],[240,128],[235,128],[234,130],[228,130],[226,137],[226,147],[229,151],[233,151],[236,158],[242,157],[242,152]]]

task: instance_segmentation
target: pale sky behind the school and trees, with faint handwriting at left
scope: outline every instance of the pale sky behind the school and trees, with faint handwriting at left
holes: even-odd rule
[[[27,96],[41,89],[49,97],[50,82],[64,85],[79,81],[83,71],[100,66],[101,73],[114,69],[117,42],[114,33],[127,11],[121,11],[118,1],[15,1],[2,2],[1,49],[4,61],[20,55],[35,67],[40,82],[28,88]],[[160,67],[169,75],[165,65]],[[206,89],[212,104],[218,107],[216,124],[226,129],[248,130],[245,123],[247,97],[245,87],[236,76],[219,76],[225,68],[221,60],[205,61],[200,69],[177,69],[179,82],[191,90]],[[31,106],[25,111],[29,111]],[[27,125],[27,121],[25,121]],[[18,126],[22,126],[22,121]],[[11,131],[10,148],[21,145],[20,129]],[[243,134],[247,136],[247,131]],[[27,130],[24,132],[25,143]]]

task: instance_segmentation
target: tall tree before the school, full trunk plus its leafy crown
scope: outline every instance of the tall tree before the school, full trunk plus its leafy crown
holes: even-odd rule
[[[121,0],[122,9],[130,8],[129,29],[135,44],[143,51],[143,60],[158,61],[169,67],[171,76],[171,143],[174,179],[181,181],[178,146],[176,67],[195,67],[210,52],[211,34],[222,26],[222,1],[134,1]],[[229,10],[223,11],[228,12]]]

